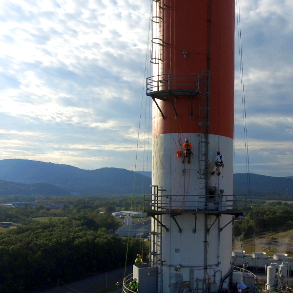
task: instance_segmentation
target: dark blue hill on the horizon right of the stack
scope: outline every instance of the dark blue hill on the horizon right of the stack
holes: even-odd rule
[[[250,188],[252,195],[265,194],[293,194],[293,179],[290,177],[272,177],[250,174]],[[234,194],[247,193],[248,175],[238,173],[233,175]]]

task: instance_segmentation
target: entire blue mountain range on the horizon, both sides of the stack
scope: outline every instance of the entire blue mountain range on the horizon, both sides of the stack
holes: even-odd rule
[[[114,167],[84,170],[69,165],[8,159],[0,160],[0,195],[141,194],[150,192],[150,177],[150,171],[134,173]],[[261,198],[268,194],[293,195],[293,178],[290,177],[238,173],[233,175],[233,182],[234,194],[247,194],[250,186],[251,195]]]

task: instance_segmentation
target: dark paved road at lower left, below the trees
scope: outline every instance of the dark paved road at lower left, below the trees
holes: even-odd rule
[[[132,272],[132,266],[126,268],[126,276]],[[122,288],[122,282],[124,278],[124,268],[121,269],[121,276],[119,276],[119,270],[111,271],[106,273],[100,273],[95,276],[73,282],[70,284],[66,284],[64,286],[61,282],[59,282],[59,289],[52,288],[46,291],[42,291],[39,293],[93,293],[98,290],[106,288],[106,278],[108,280],[108,287],[115,285],[119,282],[121,285],[119,289]]]

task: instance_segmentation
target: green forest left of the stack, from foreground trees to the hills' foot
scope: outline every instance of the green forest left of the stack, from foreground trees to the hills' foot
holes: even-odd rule
[[[116,209],[117,203],[123,204],[119,197],[112,201],[78,197],[42,199],[35,207],[24,204],[21,208],[0,205],[1,222],[20,223],[17,228],[0,232],[0,292],[40,290],[56,286],[57,279],[69,282],[86,273],[130,265],[138,252],[144,251],[146,256],[147,241],[107,232],[118,228],[119,223],[109,212],[100,213],[100,208]],[[139,202],[130,196],[123,198],[129,205]],[[71,206],[46,209],[44,204],[50,201],[67,201]],[[55,221],[54,215],[65,218]],[[40,216],[51,217],[47,222],[34,220]]]

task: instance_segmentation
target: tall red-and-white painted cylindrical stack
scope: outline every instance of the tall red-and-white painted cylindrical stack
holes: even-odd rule
[[[232,214],[225,212],[217,217],[205,210],[218,210],[220,202],[221,210],[229,209],[227,196],[233,194],[235,3],[154,3],[159,10],[156,20],[162,20],[162,27],[155,29],[160,35],[156,40],[164,41],[154,58],[161,60],[162,54],[163,62],[159,69],[154,66],[154,77],[149,78],[157,84],[151,89],[156,101],[152,185],[164,189],[158,215],[163,225],[152,220],[153,234],[160,235],[151,244],[154,249],[160,245],[156,251],[161,253],[159,270],[164,264],[158,291],[172,291],[170,280],[178,275],[193,285],[191,290],[204,286],[207,291],[209,286],[203,284],[209,284],[214,275],[212,282],[219,290],[221,278],[231,269]],[[184,154],[185,139],[192,146],[193,156],[184,160],[177,151]],[[217,151],[225,156],[225,168],[218,167],[211,174]],[[210,187],[216,187],[215,195],[209,196]],[[167,209],[176,215],[164,213]],[[229,282],[223,282],[224,289],[228,286]]]

